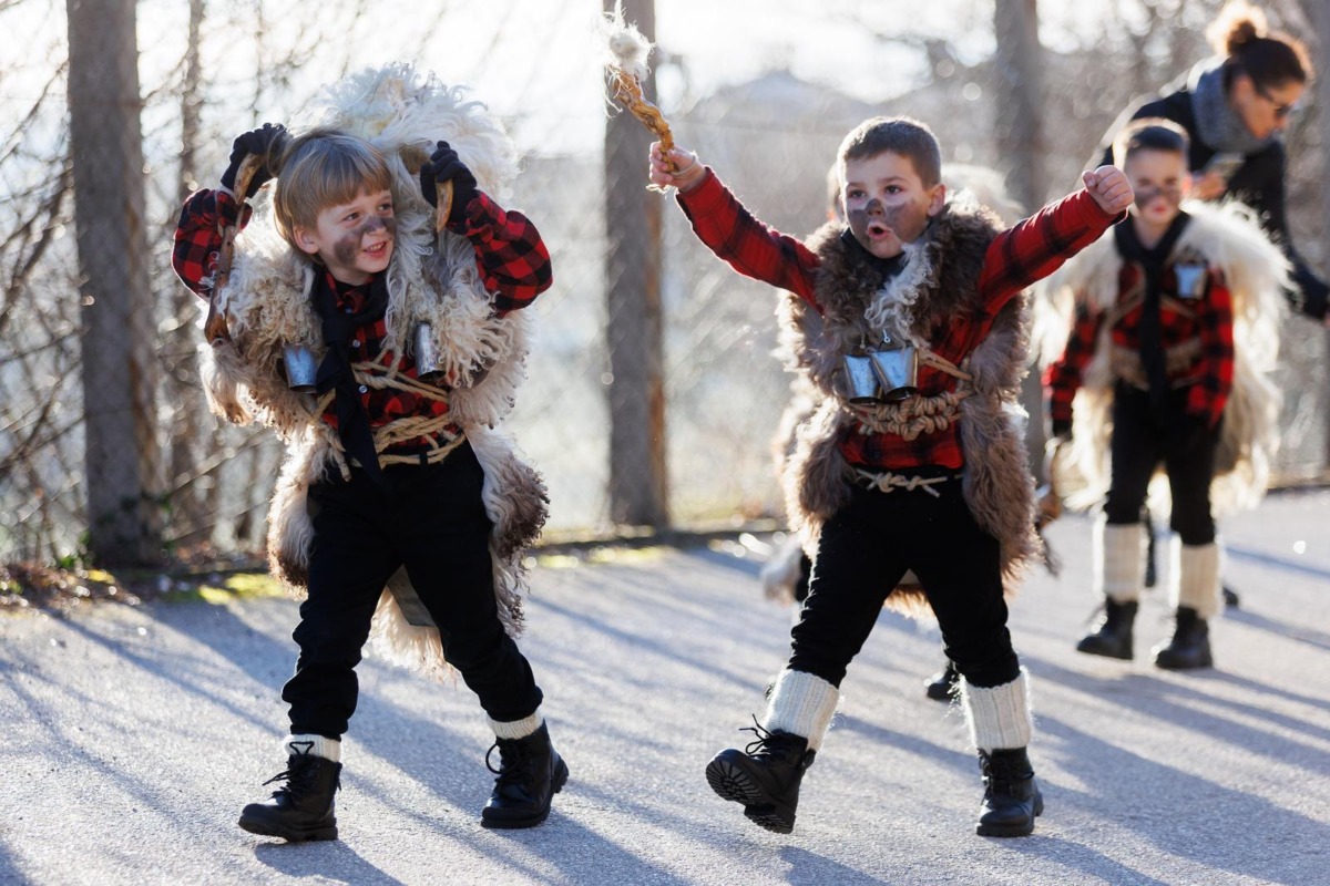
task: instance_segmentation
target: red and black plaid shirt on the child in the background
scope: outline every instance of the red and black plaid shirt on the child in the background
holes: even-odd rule
[[[1192,339],[1200,339],[1201,349],[1196,359],[1182,367],[1170,367],[1169,381],[1173,387],[1190,385],[1186,395],[1186,410],[1197,418],[1204,418],[1213,428],[1229,391],[1233,389],[1233,296],[1224,280],[1224,274],[1212,268],[1209,287],[1198,299],[1178,300],[1174,295],[1177,282],[1173,268],[1164,270],[1160,280],[1160,340],[1164,349],[1174,348]],[[1134,262],[1124,262],[1117,275],[1117,310],[1092,312],[1087,306],[1076,310],[1076,319],[1063,356],[1044,371],[1044,387],[1048,388],[1048,416],[1053,421],[1072,420],[1072,401],[1081,385],[1085,367],[1095,356],[1100,331],[1109,315],[1113,328],[1109,331],[1111,344],[1138,353],[1141,348],[1141,294],[1145,290],[1144,271]],[[1121,306],[1130,304],[1127,311]]]

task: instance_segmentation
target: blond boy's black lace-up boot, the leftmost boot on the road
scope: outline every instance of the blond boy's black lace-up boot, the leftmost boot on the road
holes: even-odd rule
[[[287,757],[286,772],[265,781],[285,782],[263,802],[251,802],[241,810],[239,826],[251,834],[302,840],[336,840],[336,817],[332,796],[342,777],[342,764],[309,752]]]

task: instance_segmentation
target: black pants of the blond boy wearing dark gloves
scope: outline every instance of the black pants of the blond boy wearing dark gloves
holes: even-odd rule
[[[310,489],[314,550],[301,603],[295,676],[282,689],[291,732],[336,739],[355,712],[355,665],[388,578],[406,566],[443,638],[448,662],[500,723],[535,713],[541,692],[504,631],[495,602],[484,472],[469,444],[428,466],[392,466],[376,486],[351,480]]]

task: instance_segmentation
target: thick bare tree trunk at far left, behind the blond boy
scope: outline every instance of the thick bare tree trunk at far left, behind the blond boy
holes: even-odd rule
[[[134,0],[66,0],[82,313],[88,550],[161,557],[161,458]]]

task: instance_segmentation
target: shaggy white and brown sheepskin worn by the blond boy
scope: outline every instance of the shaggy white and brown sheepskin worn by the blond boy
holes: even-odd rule
[[[525,311],[495,315],[473,246],[464,236],[435,232],[432,207],[418,183],[434,143],[447,139],[480,189],[499,195],[516,174],[512,145],[481,105],[463,101],[459,89],[418,77],[410,65],[367,69],[335,84],[313,106],[307,125],[360,135],[388,161],[398,228],[384,271],[383,347],[402,353],[418,324],[428,321],[442,369],[459,380],[448,395],[448,417],[462,428],[484,469],[481,497],[493,523],[495,598],[504,627],[516,635],[524,588],[521,553],[540,534],[548,503],[540,474],[519,458],[500,430],[525,377],[529,320]],[[291,392],[279,365],[287,344],[311,348],[318,360],[326,353],[311,303],[315,272],[278,236],[271,205],[261,195],[250,224],[237,238],[230,280],[217,294],[231,340],[201,348],[201,375],[213,410],[237,424],[266,425],[286,444],[269,510],[267,547],[274,575],[295,592],[307,582],[314,539],[306,510],[309,487],[344,469],[336,432],[321,420],[325,404],[314,395]],[[406,586],[407,596],[412,594],[404,570],[390,586],[399,591]],[[370,639],[383,658],[439,676],[448,671],[438,628],[408,624],[387,588]]]

